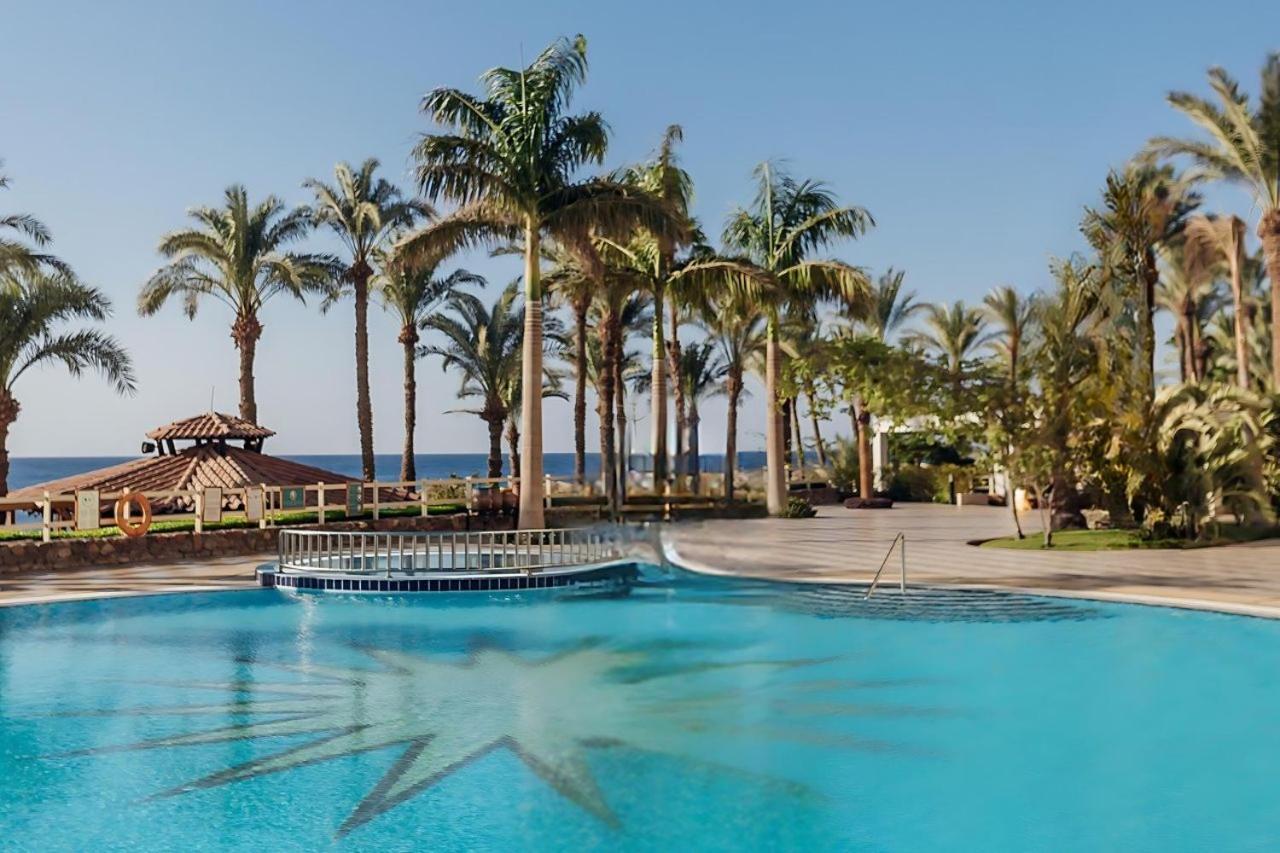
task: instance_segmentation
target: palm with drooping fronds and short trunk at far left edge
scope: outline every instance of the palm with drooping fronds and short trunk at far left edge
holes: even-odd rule
[[[97,329],[64,330],[74,320],[102,321],[111,302],[65,270],[17,264],[0,274],[0,496],[9,493],[9,429],[20,410],[14,383],[32,368],[61,364],[73,377],[97,370],[118,393],[133,393],[133,365],[115,338]]]

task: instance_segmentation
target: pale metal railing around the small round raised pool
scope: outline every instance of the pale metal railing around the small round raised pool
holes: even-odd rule
[[[419,571],[539,571],[617,560],[622,543],[599,530],[477,530],[376,533],[282,530],[279,569],[287,573],[413,574]]]

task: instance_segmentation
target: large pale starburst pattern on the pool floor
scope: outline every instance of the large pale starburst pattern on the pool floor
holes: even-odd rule
[[[173,686],[225,690],[233,698],[214,704],[72,713],[253,719],[120,747],[63,753],[61,757],[316,735],[301,745],[159,794],[169,797],[355,753],[404,747],[339,826],[340,836],[495,749],[509,749],[559,794],[600,821],[617,826],[618,818],[588,766],[588,752],[593,748],[627,747],[696,761],[699,740],[744,734],[854,748],[884,745],[824,736],[804,725],[777,727],[739,719],[735,707],[748,693],[760,689],[778,674],[822,661],[680,663],[658,661],[645,651],[612,649],[599,642],[586,642],[544,657],[526,657],[500,648],[480,648],[463,660],[378,648],[361,648],[361,652],[378,667],[264,665],[301,678],[297,681],[179,683]],[[758,670],[758,674],[745,679],[716,678],[726,671],[742,674],[748,670]],[[700,688],[700,681],[707,681],[705,686]],[[783,684],[800,693],[886,685],[847,680]],[[773,710],[778,704],[776,699],[769,702]],[[799,699],[782,703],[782,707],[788,719],[913,712],[895,706]],[[714,761],[703,763],[716,765]]]

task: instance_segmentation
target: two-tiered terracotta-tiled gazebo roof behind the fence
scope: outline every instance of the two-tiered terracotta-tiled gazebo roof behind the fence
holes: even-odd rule
[[[242,508],[239,494],[228,489],[250,485],[314,485],[332,484],[335,489],[360,478],[347,476],[321,467],[302,465],[262,452],[262,443],[275,433],[234,415],[207,412],[157,426],[147,433],[142,444],[147,456],[120,465],[86,471],[73,476],[37,483],[13,492],[10,500],[38,501],[45,492],[73,494],[79,491],[100,492],[198,492],[207,487],[224,489],[224,508]],[[241,446],[230,442],[242,442]],[[192,442],[178,447],[177,442]],[[314,491],[307,493],[314,505]],[[175,498],[159,502],[157,511],[188,511],[191,501]]]

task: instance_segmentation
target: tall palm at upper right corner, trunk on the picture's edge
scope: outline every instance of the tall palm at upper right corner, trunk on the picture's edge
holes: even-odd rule
[[[1280,389],[1280,53],[1262,65],[1257,108],[1221,68],[1208,70],[1217,102],[1189,92],[1170,92],[1169,102],[1208,133],[1208,141],[1157,137],[1149,149],[1189,156],[1204,177],[1249,188],[1260,211],[1258,237],[1271,278],[1271,383]]]

